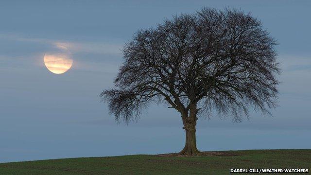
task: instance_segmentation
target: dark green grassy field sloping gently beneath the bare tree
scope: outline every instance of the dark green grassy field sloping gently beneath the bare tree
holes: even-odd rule
[[[1,163],[0,175],[229,175],[230,168],[311,168],[310,149],[208,154],[210,156],[132,155]]]

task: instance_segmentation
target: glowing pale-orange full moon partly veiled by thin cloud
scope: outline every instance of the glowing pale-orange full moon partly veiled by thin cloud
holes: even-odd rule
[[[58,46],[62,50],[67,50],[63,46]],[[48,70],[56,74],[62,74],[68,71],[73,63],[68,53],[46,53],[44,55],[44,64]]]

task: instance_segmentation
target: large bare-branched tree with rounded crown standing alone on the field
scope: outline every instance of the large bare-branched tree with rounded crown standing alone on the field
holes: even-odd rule
[[[179,154],[197,155],[198,116],[216,112],[241,122],[250,107],[265,114],[276,107],[276,44],[258,19],[239,10],[175,16],[133,36],[116,88],[101,96],[117,121],[137,120],[153,102],[176,109],[186,131]]]

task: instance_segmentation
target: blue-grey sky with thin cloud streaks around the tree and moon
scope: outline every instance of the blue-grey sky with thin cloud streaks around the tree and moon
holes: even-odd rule
[[[202,7],[260,19],[279,43],[282,84],[273,117],[200,118],[198,149],[310,149],[309,0],[1,0],[0,162],[179,152],[185,133],[175,110],[151,105],[137,123],[118,124],[99,94],[114,87],[121,49],[136,31]],[[57,45],[72,54],[64,74],[43,63]]]

